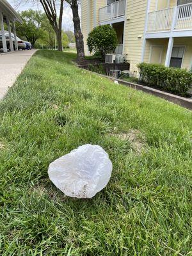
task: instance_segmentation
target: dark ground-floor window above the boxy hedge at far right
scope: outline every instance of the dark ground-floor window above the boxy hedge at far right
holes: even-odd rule
[[[185,47],[173,47],[170,67],[181,68]]]

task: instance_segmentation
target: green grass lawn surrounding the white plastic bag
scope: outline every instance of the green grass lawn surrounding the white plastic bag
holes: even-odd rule
[[[40,50],[0,102],[0,255],[192,255],[192,113]],[[94,198],[63,195],[54,159],[86,143],[113,162]]]

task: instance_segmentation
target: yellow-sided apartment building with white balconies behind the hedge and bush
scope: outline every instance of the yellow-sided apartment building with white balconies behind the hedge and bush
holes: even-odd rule
[[[141,61],[192,68],[192,0],[82,0],[84,49],[95,26],[110,24],[118,36],[116,54],[136,65]]]

